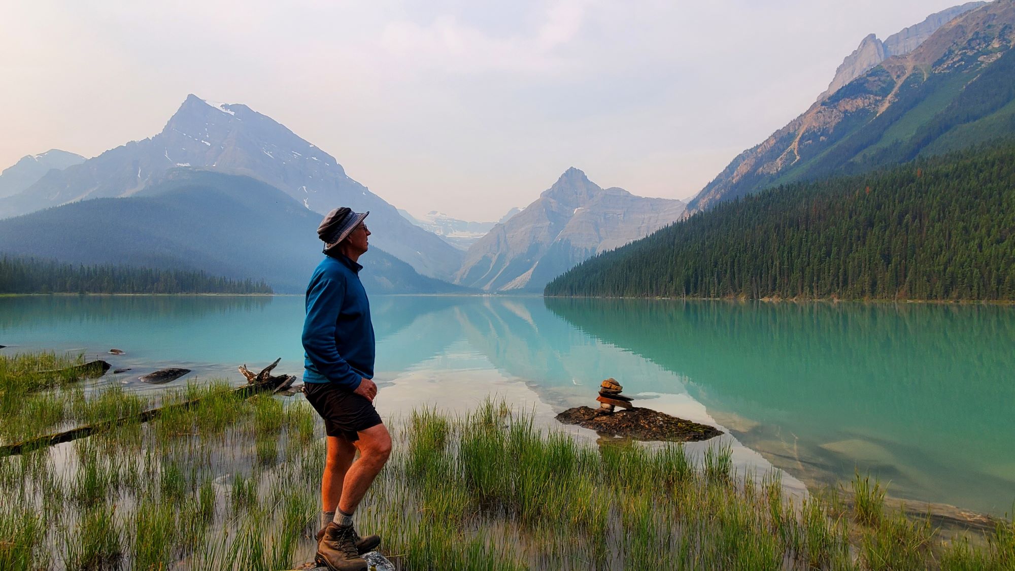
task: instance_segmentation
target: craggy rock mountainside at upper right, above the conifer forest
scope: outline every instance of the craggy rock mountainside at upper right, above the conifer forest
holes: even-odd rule
[[[1015,135],[1013,0],[958,6],[907,29],[883,45],[865,40],[863,53],[847,58],[830,88],[860,75],[740,153],[688,209]],[[902,55],[882,59],[892,53]]]

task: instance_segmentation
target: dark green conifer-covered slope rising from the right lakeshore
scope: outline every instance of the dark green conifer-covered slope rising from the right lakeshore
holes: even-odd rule
[[[1015,144],[721,203],[576,266],[545,293],[1015,300]]]

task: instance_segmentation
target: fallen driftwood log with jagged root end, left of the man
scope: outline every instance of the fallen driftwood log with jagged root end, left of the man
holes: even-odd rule
[[[295,382],[296,378],[292,375],[271,375],[271,370],[278,365],[281,358],[275,360],[274,363],[265,367],[260,373],[254,374],[249,369],[247,365],[244,364],[240,367],[240,372],[247,377],[247,384],[238,388],[232,389],[232,393],[242,398],[248,398],[259,392],[271,391],[272,393],[288,393],[292,392],[292,383]],[[64,442],[71,442],[77,440],[78,438],[85,438],[91,436],[97,432],[107,431],[116,428],[121,425],[128,423],[147,423],[148,421],[153,421],[162,416],[165,410],[178,409],[178,408],[190,408],[200,402],[200,398],[194,398],[187,400],[185,402],[178,402],[176,404],[168,404],[165,406],[159,406],[157,408],[149,408],[148,410],[143,410],[137,415],[130,415],[128,417],[121,417],[119,419],[114,419],[111,421],[103,421],[100,423],[94,423],[91,425],[85,425],[83,427],[77,427],[75,429],[67,430],[64,432],[58,432],[55,434],[49,434],[46,436],[40,436],[37,438],[30,438],[23,442],[17,442],[14,444],[6,444],[0,446],[0,457],[3,456],[13,456],[20,454],[22,452],[27,452],[31,450],[37,450],[39,448],[45,448],[47,446],[53,446],[55,444],[62,444]]]

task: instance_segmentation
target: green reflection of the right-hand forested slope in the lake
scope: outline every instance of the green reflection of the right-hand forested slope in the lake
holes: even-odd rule
[[[805,482],[855,468],[903,498],[1015,500],[1015,311],[999,306],[547,299],[685,376],[745,445]]]

